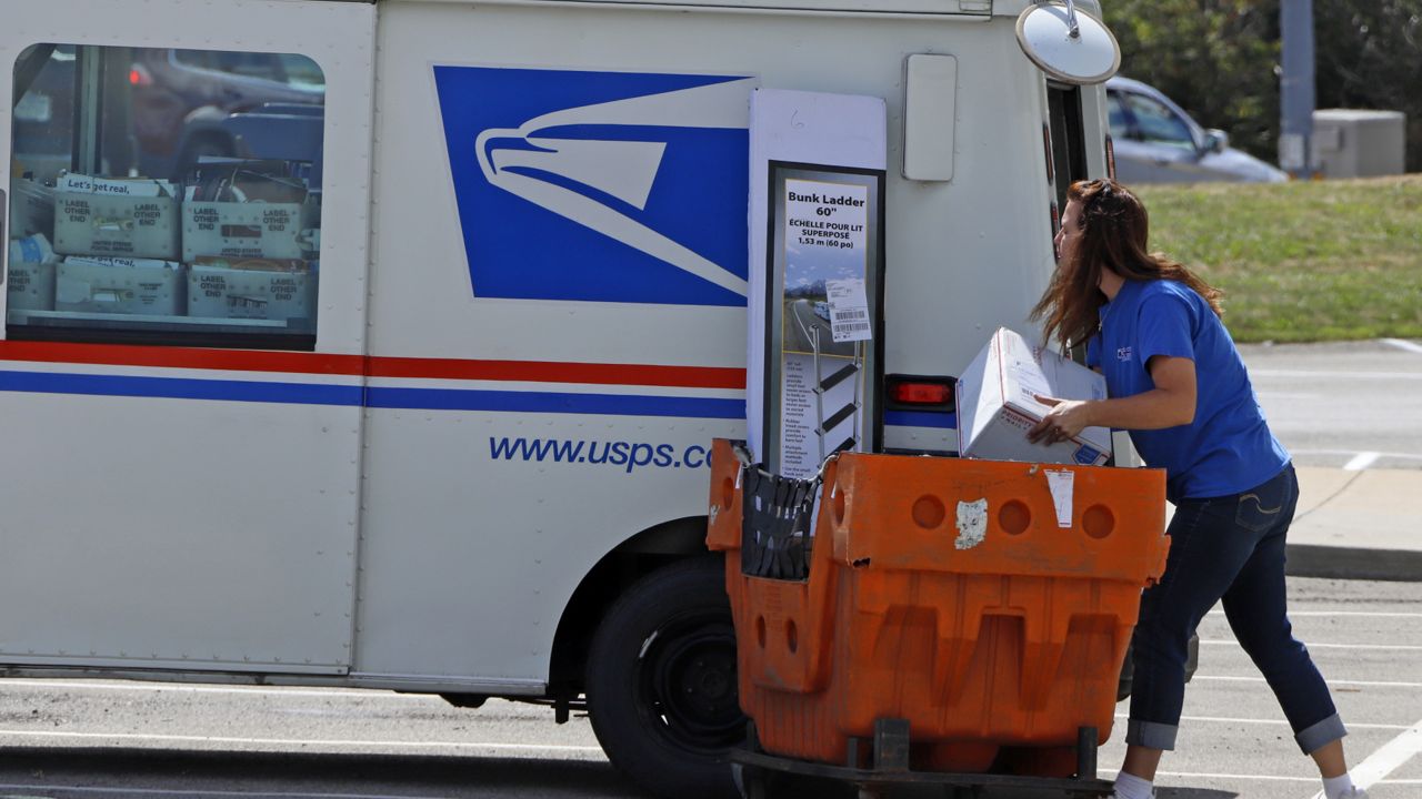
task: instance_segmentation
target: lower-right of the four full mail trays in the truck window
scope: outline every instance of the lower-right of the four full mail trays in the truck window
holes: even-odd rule
[[[311,320],[316,273],[310,269],[232,269],[195,263],[188,269],[188,316]]]

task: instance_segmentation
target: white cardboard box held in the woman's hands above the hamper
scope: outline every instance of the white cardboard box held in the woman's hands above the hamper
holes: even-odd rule
[[[1062,355],[1028,344],[1003,327],[958,377],[958,455],[993,461],[1099,466],[1111,456],[1111,431],[1086,428],[1052,445],[1027,441],[1049,405],[1034,395],[1105,400],[1106,378]]]

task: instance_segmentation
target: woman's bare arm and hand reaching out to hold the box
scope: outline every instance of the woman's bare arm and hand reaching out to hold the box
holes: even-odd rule
[[[1194,421],[1194,361],[1156,355],[1146,368],[1156,387],[1133,397],[1113,400],[1038,397],[1052,405],[1052,409],[1027,431],[1028,441],[1055,444],[1089,427],[1163,429]]]

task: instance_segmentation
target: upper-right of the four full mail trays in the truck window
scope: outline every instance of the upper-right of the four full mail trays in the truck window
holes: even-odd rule
[[[182,203],[182,257],[299,259],[307,206],[286,202]]]

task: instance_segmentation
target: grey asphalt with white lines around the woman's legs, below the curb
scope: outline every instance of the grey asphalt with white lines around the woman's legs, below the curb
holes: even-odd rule
[[[1348,726],[1355,779],[1372,799],[1422,796],[1422,584],[1293,579],[1290,617]],[[1313,761],[1219,608],[1199,634],[1200,670],[1186,691],[1179,746],[1160,766],[1160,799],[1314,796]],[[1119,724],[1125,711],[1118,705]],[[1113,735],[1101,751],[1102,776],[1115,776],[1123,752]]]

